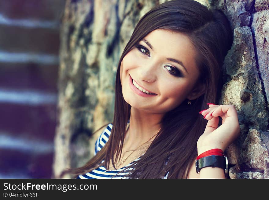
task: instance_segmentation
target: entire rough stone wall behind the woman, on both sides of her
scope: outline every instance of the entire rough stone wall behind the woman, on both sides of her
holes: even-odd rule
[[[138,20],[166,0],[66,1],[61,26],[59,122],[54,174],[93,156],[102,129],[112,122],[115,73]],[[234,104],[241,134],[227,148],[230,178],[269,178],[268,1],[198,1],[223,10],[234,30],[224,64],[219,104]]]

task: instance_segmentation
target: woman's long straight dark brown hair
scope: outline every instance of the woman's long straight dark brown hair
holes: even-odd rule
[[[195,62],[200,71],[197,84],[204,84],[205,92],[192,100],[190,105],[187,104],[186,99],[178,107],[164,114],[160,122],[160,132],[146,153],[127,167],[133,168],[127,176],[161,178],[168,171],[168,178],[188,176],[190,166],[197,156],[197,140],[203,134],[207,123],[207,120],[201,118],[199,111],[208,108],[206,103],[217,103],[219,100],[223,85],[223,60],[231,48],[233,32],[222,11],[209,9],[193,0],[172,0],[151,9],[136,25],[118,63],[115,110],[109,140],[83,167],[69,169],[68,172],[75,174],[75,177],[101,165],[109,169],[110,160],[113,166],[117,160],[120,160],[131,109],[122,94],[121,61],[135,44],[156,29],[184,33],[190,38],[196,49]],[[114,160],[115,154],[116,160]],[[101,163],[102,160],[105,162]]]

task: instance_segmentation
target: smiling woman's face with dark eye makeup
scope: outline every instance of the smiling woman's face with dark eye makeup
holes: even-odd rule
[[[165,113],[186,98],[200,96],[193,90],[199,71],[186,35],[158,29],[143,40],[124,56],[120,66],[123,97],[131,107]]]

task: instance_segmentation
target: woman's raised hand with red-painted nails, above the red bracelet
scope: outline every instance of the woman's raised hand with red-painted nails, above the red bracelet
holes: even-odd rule
[[[239,136],[240,126],[234,105],[209,104],[209,108],[200,112],[208,120],[205,132],[197,142],[198,155],[209,149],[224,150]],[[222,125],[218,127],[219,117]]]

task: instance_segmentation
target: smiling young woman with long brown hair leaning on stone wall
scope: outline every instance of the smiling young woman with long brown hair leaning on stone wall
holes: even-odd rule
[[[226,16],[196,1],[168,1],[147,12],[120,57],[113,123],[96,141],[96,155],[69,172],[225,178],[223,152],[240,128],[235,107],[216,102],[232,41]]]

